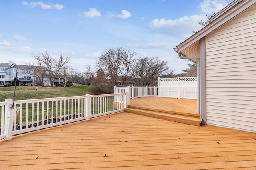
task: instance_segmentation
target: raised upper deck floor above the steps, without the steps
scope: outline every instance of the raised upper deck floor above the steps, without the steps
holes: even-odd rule
[[[174,99],[164,97],[141,97],[130,99],[130,105],[138,108],[166,110],[180,113],[197,114],[196,99]]]

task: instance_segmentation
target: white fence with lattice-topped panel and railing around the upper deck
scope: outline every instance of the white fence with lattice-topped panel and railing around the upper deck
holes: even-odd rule
[[[197,77],[159,78],[158,87],[114,87],[114,93],[128,93],[129,99],[137,97],[171,97],[197,99]],[[129,104],[129,101],[128,101]]]

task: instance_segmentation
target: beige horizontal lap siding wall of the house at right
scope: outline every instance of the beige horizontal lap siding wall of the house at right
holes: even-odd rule
[[[206,123],[256,132],[256,5],[205,40]]]

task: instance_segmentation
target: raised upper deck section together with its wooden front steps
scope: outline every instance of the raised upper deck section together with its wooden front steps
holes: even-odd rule
[[[168,121],[200,126],[202,119],[197,113],[197,100],[164,97],[130,99],[124,111]]]

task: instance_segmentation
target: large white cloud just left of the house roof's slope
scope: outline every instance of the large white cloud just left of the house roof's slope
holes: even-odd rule
[[[184,16],[176,20],[156,18],[150,22],[150,28],[154,32],[187,38],[192,35],[192,31],[198,31],[202,28],[198,21],[204,17],[204,15],[193,15]]]

